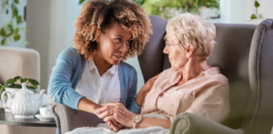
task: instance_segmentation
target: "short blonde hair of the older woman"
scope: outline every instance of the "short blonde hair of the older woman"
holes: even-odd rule
[[[170,34],[170,35],[169,35]],[[177,15],[167,23],[167,35],[174,36],[185,47],[195,47],[193,56],[208,58],[213,50],[216,27],[208,19],[199,15],[184,13]]]

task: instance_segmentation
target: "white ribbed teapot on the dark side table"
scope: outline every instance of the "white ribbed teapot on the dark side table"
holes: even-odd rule
[[[11,113],[15,115],[15,118],[33,118],[33,115],[43,105],[43,94],[45,89],[42,89],[40,95],[35,96],[34,92],[26,88],[26,84],[22,84],[22,89],[15,92],[14,95],[9,91],[3,92],[1,98],[4,103],[4,108],[11,110]],[[10,108],[6,107],[4,96],[10,94],[11,103]]]

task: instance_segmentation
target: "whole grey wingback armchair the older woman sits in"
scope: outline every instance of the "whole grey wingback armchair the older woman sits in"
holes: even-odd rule
[[[145,82],[170,67],[165,47],[167,20],[150,15],[153,34],[138,56]],[[179,113],[171,134],[269,134],[273,125],[273,19],[257,25],[215,24],[217,42],[207,64],[219,67],[229,82],[230,114],[221,123],[192,113]],[[94,127],[95,115],[54,104],[59,133]]]

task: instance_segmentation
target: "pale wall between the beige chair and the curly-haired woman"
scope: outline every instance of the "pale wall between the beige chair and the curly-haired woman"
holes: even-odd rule
[[[41,88],[47,89],[52,67],[59,53],[73,46],[73,22],[79,11],[77,1],[28,0],[27,39],[41,57]]]

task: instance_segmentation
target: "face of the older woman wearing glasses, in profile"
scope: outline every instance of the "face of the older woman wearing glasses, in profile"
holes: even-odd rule
[[[175,70],[181,70],[187,63],[186,50],[179,46],[181,44],[177,38],[167,36],[167,45],[163,52],[168,54],[171,67]]]

